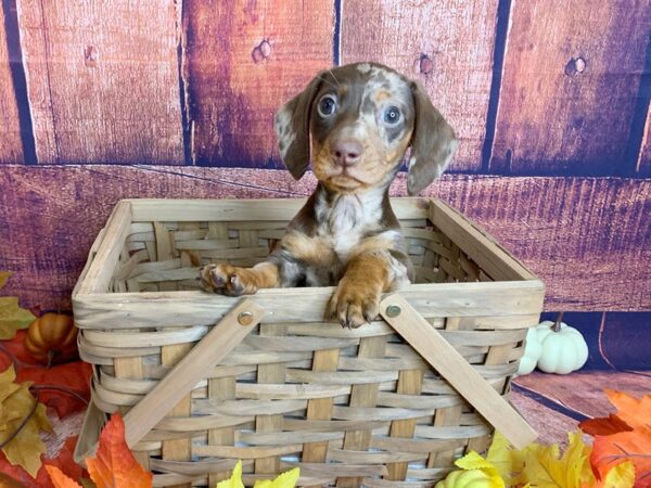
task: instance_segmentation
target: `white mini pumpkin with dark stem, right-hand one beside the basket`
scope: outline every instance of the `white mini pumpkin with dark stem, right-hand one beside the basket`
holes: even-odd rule
[[[588,360],[588,345],[583,335],[564,322],[558,322],[558,325],[550,320],[540,322],[536,335],[541,347],[540,371],[567,374],[580,369]]]

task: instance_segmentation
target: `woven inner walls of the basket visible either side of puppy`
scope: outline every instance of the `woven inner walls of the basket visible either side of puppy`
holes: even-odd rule
[[[431,222],[403,223],[417,283],[492,281]],[[418,223],[426,227],[413,227]],[[133,223],[112,291],[197,290],[199,267],[209,262],[254,266],[276,247],[285,226],[282,221]]]

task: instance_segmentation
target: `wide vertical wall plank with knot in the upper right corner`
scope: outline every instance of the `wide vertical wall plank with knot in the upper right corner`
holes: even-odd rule
[[[617,175],[651,23],[648,0],[513,0],[494,172]]]

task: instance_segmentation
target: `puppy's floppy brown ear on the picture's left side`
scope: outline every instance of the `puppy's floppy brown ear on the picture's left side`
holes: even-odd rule
[[[273,126],[280,156],[285,168],[296,180],[303,177],[309,166],[309,115],[320,85],[321,74],[276,114]]]

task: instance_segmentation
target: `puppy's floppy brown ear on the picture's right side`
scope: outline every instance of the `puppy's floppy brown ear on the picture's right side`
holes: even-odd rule
[[[454,129],[432,105],[420,84],[412,82],[411,92],[416,120],[411,136],[407,191],[410,195],[418,195],[445,171],[457,151],[458,141]]]

